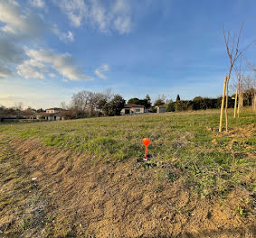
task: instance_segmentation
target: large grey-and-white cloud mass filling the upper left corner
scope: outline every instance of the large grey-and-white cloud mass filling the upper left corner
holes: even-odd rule
[[[44,1],[30,1],[36,7],[45,6]],[[0,2],[0,78],[14,76],[12,70],[23,78],[53,77],[55,70],[68,80],[92,79],[81,72],[73,57],[58,54],[53,50],[30,50],[24,47],[36,42],[39,48],[40,37],[46,29],[56,34],[61,41],[74,41],[72,32],[61,32],[56,24],[45,23],[43,18],[23,8],[14,0]],[[34,41],[35,40],[35,41]],[[37,41],[39,40],[39,41]]]

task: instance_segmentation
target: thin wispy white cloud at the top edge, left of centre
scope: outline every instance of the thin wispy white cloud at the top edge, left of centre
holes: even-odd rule
[[[71,24],[80,27],[83,22],[99,28],[101,32],[118,31],[120,34],[131,31],[130,5],[128,0],[115,0],[112,5],[104,1],[53,0],[61,8]]]

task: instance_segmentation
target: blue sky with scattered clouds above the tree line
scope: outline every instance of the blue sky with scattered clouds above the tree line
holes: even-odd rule
[[[256,39],[253,0],[0,0],[0,105],[59,106],[80,90],[219,96],[226,30]],[[255,46],[246,51],[256,63]]]

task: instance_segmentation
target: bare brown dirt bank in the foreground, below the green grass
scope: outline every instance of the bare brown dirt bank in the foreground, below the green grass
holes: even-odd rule
[[[242,217],[236,211],[249,206],[244,201],[251,197],[245,190],[236,189],[223,200],[203,198],[185,188],[181,178],[173,183],[152,179],[156,169],[141,169],[136,160],[106,163],[85,153],[46,147],[36,139],[15,139],[10,144],[23,161],[18,165],[21,172],[27,171],[28,181],[36,178],[34,194],[40,193],[40,199],[32,210],[42,208],[47,217],[43,237],[256,235],[255,215]],[[8,190],[10,185],[5,187]],[[0,213],[3,223],[5,214]],[[23,237],[33,237],[29,234]]]

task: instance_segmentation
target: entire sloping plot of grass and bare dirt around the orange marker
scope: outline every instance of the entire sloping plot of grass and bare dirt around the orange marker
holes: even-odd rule
[[[231,119],[229,133],[218,119],[213,110],[0,124],[2,235],[253,237],[256,117]]]

